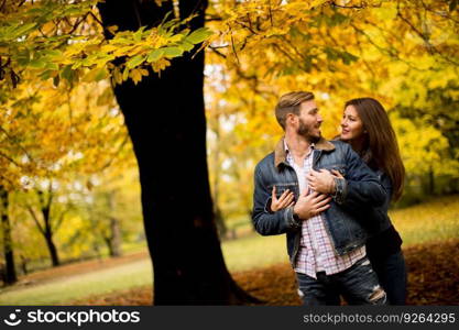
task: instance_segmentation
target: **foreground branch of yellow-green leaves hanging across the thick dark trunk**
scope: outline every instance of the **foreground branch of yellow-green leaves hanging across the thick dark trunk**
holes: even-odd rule
[[[61,80],[77,82],[79,77],[84,81],[98,81],[107,78],[107,67],[119,58],[114,81],[131,78],[138,82],[147,75],[149,67],[160,73],[171,65],[170,59],[193,51],[212,34],[205,28],[190,31],[187,24],[193,15],[182,21],[166,15],[152,29],[111,29],[110,40],[100,31],[95,33],[97,29],[90,23],[92,30],[88,34],[75,34],[72,24],[88,24],[80,20],[95,10],[98,1],[36,1],[6,15],[0,24],[0,48],[10,58],[11,70],[32,69],[35,77],[53,78],[55,86]],[[134,69],[139,70],[132,73]]]

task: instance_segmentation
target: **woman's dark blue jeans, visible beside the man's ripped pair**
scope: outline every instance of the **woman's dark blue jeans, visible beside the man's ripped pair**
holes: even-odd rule
[[[403,252],[398,251],[386,257],[370,256],[370,262],[387,294],[389,304],[405,305],[406,265]]]

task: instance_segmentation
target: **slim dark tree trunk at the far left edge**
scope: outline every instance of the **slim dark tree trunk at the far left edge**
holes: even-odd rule
[[[18,282],[18,275],[14,267],[14,253],[13,253],[13,241],[11,238],[11,224],[10,217],[8,215],[8,191],[3,186],[0,186],[0,211],[1,211],[1,226],[3,230],[3,253],[4,253],[4,283],[13,284]]]

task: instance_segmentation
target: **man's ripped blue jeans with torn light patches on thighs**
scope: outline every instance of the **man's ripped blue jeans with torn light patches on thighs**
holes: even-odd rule
[[[340,295],[349,305],[387,305],[386,294],[367,256],[337,274],[319,272],[315,279],[296,273],[296,278],[306,306],[340,305]]]

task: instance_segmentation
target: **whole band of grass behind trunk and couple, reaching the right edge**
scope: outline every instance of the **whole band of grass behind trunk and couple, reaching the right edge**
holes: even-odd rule
[[[390,216],[405,248],[459,238],[459,196],[437,198],[423,205],[394,210]],[[225,241],[222,251],[230,272],[288,262],[284,235],[250,234],[234,241]],[[0,292],[0,305],[57,305],[145,285],[152,285],[151,262],[147,258],[40,285],[13,286]]]

